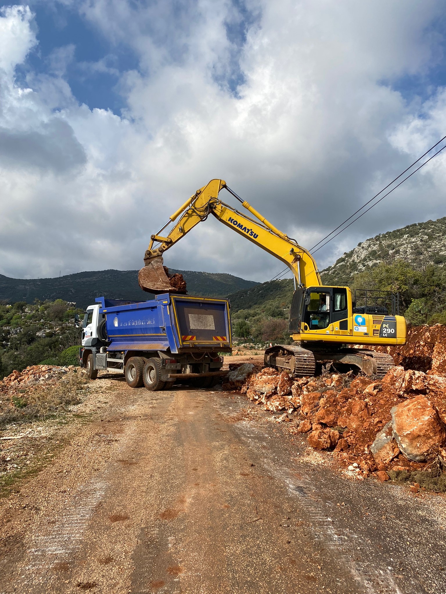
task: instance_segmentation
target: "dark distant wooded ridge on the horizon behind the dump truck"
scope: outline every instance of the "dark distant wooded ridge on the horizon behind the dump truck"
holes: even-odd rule
[[[203,297],[225,297],[240,289],[250,289],[258,285],[251,280],[244,280],[232,274],[196,272],[193,270],[174,270],[181,273],[187,282],[190,295]],[[11,279],[0,274],[0,300],[13,303],[34,299],[64,299],[75,302],[77,307],[85,308],[101,295],[109,299],[129,299],[145,301],[150,293],[138,286],[137,270],[99,270],[67,274],[53,279]]]

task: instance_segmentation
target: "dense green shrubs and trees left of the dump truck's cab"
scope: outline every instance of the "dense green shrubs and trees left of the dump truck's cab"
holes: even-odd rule
[[[62,299],[0,302],[0,378],[42,362],[75,365],[81,334],[74,327],[76,313],[82,310]]]

